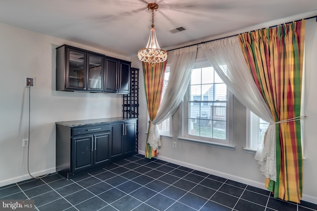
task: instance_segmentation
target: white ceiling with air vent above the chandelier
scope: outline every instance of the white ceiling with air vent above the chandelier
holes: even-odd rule
[[[151,2],[159,4],[154,24],[159,45],[167,50],[276,19],[317,14],[317,0],[0,0],[0,22],[131,57],[148,42]],[[181,26],[186,30],[170,32]]]

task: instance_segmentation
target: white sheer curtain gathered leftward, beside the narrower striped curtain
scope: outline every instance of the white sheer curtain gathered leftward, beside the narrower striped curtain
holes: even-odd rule
[[[159,128],[157,125],[173,115],[182,102],[191,78],[196,54],[197,46],[174,50],[168,85],[160,103],[158,114],[152,121],[149,131],[148,143],[154,150],[160,146]]]

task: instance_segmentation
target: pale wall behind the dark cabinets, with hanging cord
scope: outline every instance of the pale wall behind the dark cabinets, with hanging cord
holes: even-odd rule
[[[28,88],[31,88],[30,171],[55,171],[55,122],[122,116],[121,95],[55,90],[55,48],[70,44],[120,59],[130,58],[0,24],[0,186],[27,173]]]

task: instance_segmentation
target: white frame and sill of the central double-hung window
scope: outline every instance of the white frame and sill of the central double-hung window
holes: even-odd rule
[[[193,69],[211,67],[209,62],[200,62],[194,65]],[[215,71],[215,70],[214,70]],[[217,84],[217,83],[215,83]],[[181,134],[178,139],[184,142],[197,143],[206,146],[212,146],[222,149],[234,150],[233,146],[233,94],[227,87],[227,100],[226,100],[226,139],[208,138],[203,136],[190,135],[188,133],[188,104],[190,100],[190,83],[188,84],[187,91],[181,106]],[[201,101],[200,103],[204,103]]]

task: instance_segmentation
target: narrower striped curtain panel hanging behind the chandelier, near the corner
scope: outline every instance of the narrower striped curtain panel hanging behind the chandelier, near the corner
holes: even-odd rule
[[[149,127],[148,127],[148,135],[147,142],[145,148],[145,157],[153,158],[158,156],[159,149],[153,150],[149,145],[149,131],[151,127],[151,123],[154,118],[157,116],[159,110],[160,99],[163,93],[163,83],[164,83],[164,73],[166,68],[166,61],[157,63],[154,66],[147,62],[142,62],[143,65],[143,76],[144,76],[144,89],[145,95],[148,103],[148,113],[149,113]]]

